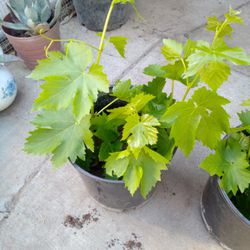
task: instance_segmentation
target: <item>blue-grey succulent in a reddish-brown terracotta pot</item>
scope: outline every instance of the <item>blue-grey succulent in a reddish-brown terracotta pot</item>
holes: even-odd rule
[[[60,37],[61,0],[57,0],[54,11],[48,0],[9,0],[7,7],[10,13],[0,20],[2,29],[20,58],[33,69],[37,60],[45,57],[44,48],[50,44],[43,36]],[[53,43],[50,50],[60,50],[60,43]]]

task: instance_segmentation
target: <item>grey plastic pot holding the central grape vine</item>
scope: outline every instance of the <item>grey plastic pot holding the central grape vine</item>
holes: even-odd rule
[[[153,188],[146,200],[141,196],[140,190],[131,196],[123,181],[103,179],[88,173],[75,163],[73,166],[80,173],[89,194],[105,207],[114,210],[135,208],[146,202],[155,191]]]

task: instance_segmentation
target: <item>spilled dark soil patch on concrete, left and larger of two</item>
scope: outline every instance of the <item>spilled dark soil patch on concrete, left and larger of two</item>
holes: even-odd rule
[[[63,225],[65,227],[72,227],[76,229],[83,228],[84,225],[89,225],[92,222],[97,222],[99,220],[100,214],[97,209],[94,208],[90,212],[83,214],[80,217],[67,215]]]

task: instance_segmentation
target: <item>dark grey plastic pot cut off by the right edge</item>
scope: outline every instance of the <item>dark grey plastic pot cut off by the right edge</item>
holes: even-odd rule
[[[207,230],[226,249],[250,249],[250,221],[234,206],[219,186],[218,177],[210,177],[201,200],[201,215]]]

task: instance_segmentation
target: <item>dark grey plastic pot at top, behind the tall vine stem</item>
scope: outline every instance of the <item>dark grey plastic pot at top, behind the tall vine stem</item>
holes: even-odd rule
[[[89,30],[102,31],[112,0],[73,0],[77,17]],[[129,4],[116,4],[108,30],[120,28],[129,19]]]

